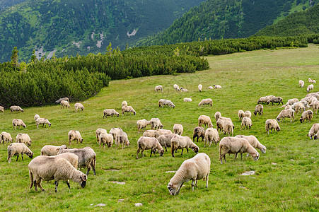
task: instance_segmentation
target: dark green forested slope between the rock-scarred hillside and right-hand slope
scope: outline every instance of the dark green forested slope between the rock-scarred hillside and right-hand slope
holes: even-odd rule
[[[175,20],[167,30],[138,45],[167,45],[204,39],[249,37],[258,30],[319,1],[208,0]],[[317,21],[318,22],[318,21]]]

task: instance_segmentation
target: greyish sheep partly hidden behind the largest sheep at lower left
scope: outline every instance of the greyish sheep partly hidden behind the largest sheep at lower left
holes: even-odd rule
[[[96,154],[91,147],[84,148],[60,148],[59,154],[62,153],[74,153],[79,157],[78,166],[81,169],[82,167],[87,167],[86,175],[90,172],[91,167],[93,169],[93,175],[95,175],[95,165],[96,165]]]

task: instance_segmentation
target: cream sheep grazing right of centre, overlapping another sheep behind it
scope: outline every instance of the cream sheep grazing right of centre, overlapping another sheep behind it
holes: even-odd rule
[[[238,137],[224,137],[221,139],[221,142],[219,143],[219,160],[221,161],[221,164],[223,164],[223,158],[226,163],[226,153],[235,154],[235,159],[238,153],[240,153],[241,159],[243,159],[243,153],[249,153],[254,160],[258,160],[260,156],[246,139]]]

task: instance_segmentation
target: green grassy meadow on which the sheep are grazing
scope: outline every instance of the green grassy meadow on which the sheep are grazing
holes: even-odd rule
[[[294,123],[290,119],[279,122],[281,131],[267,134],[266,119],[275,119],[282,110],[277,105],[264,105],[264,115],[253,114],[253,126],[250,130],[240,131],[238,110],[250,110],[253,113],[257,100],[261,96],[275,95],[286,100],[306,96],[308,77],[319,81],[319,49],[316,45],[307,48],[258,50],[221,56],[207,57],[210,69],[197,73],[178,76],[151,76],[130,80],[112,81],[98,95],[83,102],[85,109],[75,113],[71,108],[60,109],[59,105],[23,108],[23,113],[11,114],[5,110],[0,114],[0,131],[6,131],[16,139],[18,133],[27,133],[33,141],[30,147],[34,155],[40,155],[40,149],[47,144],[69,148],[90,146],[97,154],[96,176],[91,170],[86,187],[71,182],[68,189],[60,182],[58,192],[54,192],[54,182],[42,182],[45,192],[29,189],[28,163],[16,156],[8,164],[6,148],[0,146],[0,211],[99,211],[96,204],[106,204],[108,211],[318,211],[318,140],[309,139],[309,129],[319,122],[319,114],[314,114],[311,123],[301,124],[296,114]],[[305,87],[299,88],[298,81],[303,79]],[[187,93],[175,92],[173,84],[187,88]],[[203,92],[197,90],[203,85]],[[208,86],[219,84],[223,88],[208,90]],[[317,83],[318,84],[318,83]],[[315,90],[318,91],[318,85]],[[155,93],[154,87],[163,86],[163,93]],[[158,107],[158,100],[172,100],[175,109]],[[183,98],[192,98],[192,102],[183,102]],[[198,107],[203,98],[211,98],[213,107]],[[113,108],[120,112],[123,100],[134,107],[136,115],[120,115],[103,119],[103,110]],[[267,147],[267,153],[260,153],[260,159],[251,157],[233,160],[226,155],[227,163],[219,163],[219,147],[204,148],[202,139],[197,145],[199,152],[207,153],[211,158],[209,187],[200,180],[192,192],[191,183],[185,183],[178,196],[170,196],[167,184],[181,163],[192,158],[195,153],[181,151],[175,158],[168,152],[160,157],[136,159],[137,134],[136,122],[139,119],[161,119],[163,129],[173,129],[173,124],[184,126],[183,136],[192,138],[199,115],[211,117],[214,127],[214,113],[221,112],[230,117],[236,126],[234,136],[238,134],[255,135]],[[34,115],[46,117],[51,127],[37,129]],[[23,119],[26,129],[12,129],[12,120]],[[130,146],[99,148],[95,139],[98,127],[107,129],[121,127],[129,136]],[[79,130],[83,143],[71,143],[69,130]],[[148,126],[146,129],[150,129]],[[224,134],[219,134],[221,138]],[[258,150],[259,151],[259,150]],[[260,151],[259,151],[260,152]],[[241,176],[246,171],[255,170],[255,175]],[[83,170],[86,172],[86,170]],[[125,182],[117,184],[114,182]],[[135,207],[135,203],[143,206]]]

